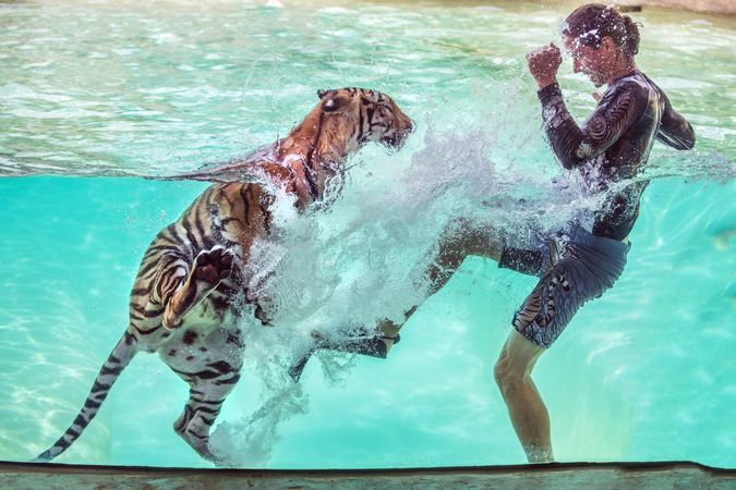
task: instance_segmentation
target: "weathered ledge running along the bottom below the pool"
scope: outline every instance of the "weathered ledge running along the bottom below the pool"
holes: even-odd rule
[[[215,469],[0,462],[3,489],[735,489],[736,469],[693,462],[379,469]]]

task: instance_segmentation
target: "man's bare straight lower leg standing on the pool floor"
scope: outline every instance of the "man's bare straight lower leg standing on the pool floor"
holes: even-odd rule
[[[544,348],[512,330],[494,367],[514,430],[530,463],[554,461],[550,414],[531,379],[532,368],[543,352]]]

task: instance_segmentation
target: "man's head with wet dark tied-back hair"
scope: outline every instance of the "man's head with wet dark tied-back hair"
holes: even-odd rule
[[[576,9],[562,29],[572,70],[584,73],[596,87],[610,81],[622,64],[632,64],[639,52],[639,29],[628,15],[589,3]]]

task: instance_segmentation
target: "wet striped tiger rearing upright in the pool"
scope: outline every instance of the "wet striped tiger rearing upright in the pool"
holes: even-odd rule
[[[253,243],[273,232],[275,191],[304,211],[323,200],[348,155],[370,142],[398,148],[413,130],[383,93],[347,87],[317,95],[318,103],[285,138],[217,169],[182,174],[212,184],[148,246],[132,287],[128,328],[76,418],[34,461],[51,461],[80,438],[138,352],[158,353],[189,384],[173,430],[203,458],[221,461],[210,450],[209,431],[240,379],[244,345],[237,319],[246,311],[243,304],[270,324],[262,298],[248,291],[246,268]],[[244,175],[261,180],[242,182]]]

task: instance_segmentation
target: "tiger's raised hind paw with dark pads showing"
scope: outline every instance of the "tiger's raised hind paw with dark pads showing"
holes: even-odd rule
[[[232,252],[219,245],[200,252],[186,280],[166,304],[164,327],[179,327],[182,317],[230,275],[233,257]]]

